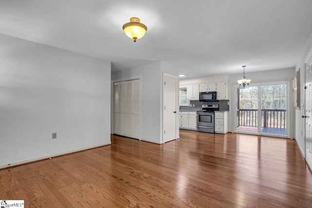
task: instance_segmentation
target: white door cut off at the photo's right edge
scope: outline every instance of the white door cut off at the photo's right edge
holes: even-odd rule
[[[305,103],[306,103],[306,120],[305,120],[305,143],[306,143],[306,161],[312,169],[312,56],[306,62],[305,70]]]

